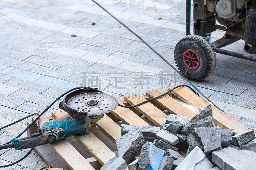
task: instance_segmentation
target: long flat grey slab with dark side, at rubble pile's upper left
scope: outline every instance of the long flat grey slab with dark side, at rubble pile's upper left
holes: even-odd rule
[[[121,125],[122,136],[131,130],[140,130],[145,138],[145,141],[153,142],[156,138],[156,133],[159,132],[160,127],[156,126],[141,126],[141,125]]]

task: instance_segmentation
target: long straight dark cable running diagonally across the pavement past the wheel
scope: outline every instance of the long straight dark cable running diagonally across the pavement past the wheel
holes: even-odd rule
[[[212,102],[212,100],[210,100],[207,96],[205,96],[195,85],[192,84],[192,82],[190,80],[188,80],[188,78],[186,78],[177,68],[175,68],[174,66],[172,66],[171,63],[169,63],[162,55],[160,55],[156,50],[154,50],[147,42],[145,42],[138,34],[136,34],[135,32],[133,32],[128,26],[126,26],[124,23],[122,23],[119,19],[117,19],[115,16],[113,16],[110,12],[108,12],[104,7],[102,7],[99,3],[97,3],[94,0],[91,0],[92,2],[94,2],[95,4],[97,4],[101,9],[103,9],[104,11],[106,11],[111,17],[113,17],[114,19],[116,19],[121,25],[123,25],[125,28],[127,28],[131,33],[133,33],[136,37],[138,37],[142,42],[144,42],[154,53],[156,53],[159,57],[161,57],[165,63],[167,63],[169,66],[171,66],[176,72],[178,72],[186,81],[188,81],[189,84],[191,84],[200,94],[202,94],[202,96],[207,99],[209,102],[211,102],[215,107],[217,107],[219,110],[221,110],[222,112],[224,112],[222,109],[220,109],[220,107],[218,107],[216,104],[214,104],[214,102]],[[225,112],[224,112],[225,113]]]

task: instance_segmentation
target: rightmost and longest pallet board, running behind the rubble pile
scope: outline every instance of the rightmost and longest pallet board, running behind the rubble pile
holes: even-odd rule
[[[173,87],[175,86],[168,87],[168,90],[172,89]],[[197,107],[199,111],[202,111],[206,106],[210,104],[206,100],[196,95],[194,92],[188,90],[186,87],[179,87],[173,90],[172,94],[177,96],[180,100],[184,101],[185,103]],[[220,111],[214,105],[212,105],[212,119],[215,123],[217,123],[224,129],[226,128],[234,129],[234,131],[237,134],[247,130],[251,130],[251,129],[248,129],[246,126],[244,126],[242,123],[236,121],[231,116]]]

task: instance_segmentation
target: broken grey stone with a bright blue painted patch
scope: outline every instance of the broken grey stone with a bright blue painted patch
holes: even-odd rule
[[[158,169],[161,160],[164,157],[164,150],[157,148],[153,143],[146,142],[141,149],[138,159],[140,169],[148,169],[154,167]],[[156,161],[157,160],[157,161]]]

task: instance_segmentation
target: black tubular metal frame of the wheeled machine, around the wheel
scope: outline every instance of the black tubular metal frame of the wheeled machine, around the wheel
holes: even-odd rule
[[[191,1],[186,0],[186,35],[190,35],[190,15],[191,15]],[[217,41],[212,42],[211,44],[213,46],[213,50],[216,53],[229,55],[232,57],[242,58],[245,60],[256,62],[256,56],[244,55],[244,54],[228,51],[225,49],[220,49],[220,48],[225,47],[229,44],[232,44],[233,42],[236,42],[238,40],[240,40],[240,38],[237,38],[237,37],[230,38],[229,40],[221,38]],[[225,41],[225,43],[222,43],[223,41]]]

